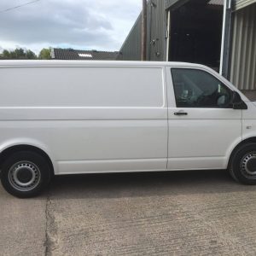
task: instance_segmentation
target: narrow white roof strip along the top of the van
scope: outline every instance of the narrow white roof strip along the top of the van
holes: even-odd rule
[[[200,64],[172,61],[57,61],[57,60],[3,60],[0,67],[205,67]]]

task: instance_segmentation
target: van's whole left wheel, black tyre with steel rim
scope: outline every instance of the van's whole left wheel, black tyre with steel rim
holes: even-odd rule
[[[9,155],[1,169],[3,188],[19,198],[38,195],[47,187],[51,177],[49,162],[43,155],[31,151]]]

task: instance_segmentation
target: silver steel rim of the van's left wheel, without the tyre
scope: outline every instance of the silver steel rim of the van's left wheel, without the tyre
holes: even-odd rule
[[[30,173],[30,178],[24,182],[20,180],[20,173]],[[37,165],[30,161],[19,161],[9,168],[9,183],[19,191],[30,191],[35,189],[40,183],[41,172]]]

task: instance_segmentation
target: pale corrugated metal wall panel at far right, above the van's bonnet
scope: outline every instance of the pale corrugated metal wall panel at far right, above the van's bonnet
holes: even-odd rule
[[[256,89],[256,4],[234,13],[230,81],[241,90]]]

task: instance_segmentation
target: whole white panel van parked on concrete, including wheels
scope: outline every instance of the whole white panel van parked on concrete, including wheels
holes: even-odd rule
[[[256,107],[177,62],[1,61],[0,164],[12,195],[53,175],[229,169],[256,183]]]

